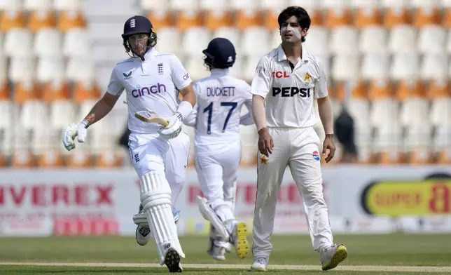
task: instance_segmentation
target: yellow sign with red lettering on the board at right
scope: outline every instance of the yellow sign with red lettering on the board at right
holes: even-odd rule
[[[384,181],[368,186],[362,206],[373,215],[431,215],[451,213],[451,180]]]

